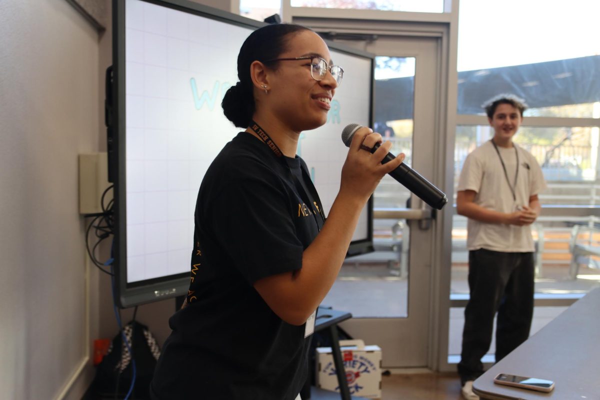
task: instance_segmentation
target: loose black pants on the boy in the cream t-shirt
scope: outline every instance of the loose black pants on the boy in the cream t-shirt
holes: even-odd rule
[[[483,373],[481,357],[490,349],[496,312],[496,362],[529,337],[533,269],[533,252],[469,251],[470,298],[458,363],[463,384]]]

